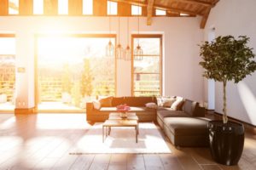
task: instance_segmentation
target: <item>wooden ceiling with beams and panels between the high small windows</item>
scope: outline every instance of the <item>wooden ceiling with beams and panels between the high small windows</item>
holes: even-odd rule
[[[147,17],[147,25],[152,23],[152,17],[156,16],[155,9],[166,10],[166,17],[195,17],[201,16],[203,29],[206,26],[211,9],[219,0],[109,0],[118,3],[118,16],[131,15],[131,5],[139,5],[143,8],[143,16]],[[18,15],[32,14],[33,0],[20,0],[19,7],[11,7],[9,0],[0,0],[0,16],[9,15],[9,8],[19,8]],[[11,5],[11,6],[9,6]],[[82,14],[83,0],[68,0],[68,15]],[[58,15],[58,0],[44,0],[44,15]],[[107,0],[93,0],[92,16],[107,15]]]

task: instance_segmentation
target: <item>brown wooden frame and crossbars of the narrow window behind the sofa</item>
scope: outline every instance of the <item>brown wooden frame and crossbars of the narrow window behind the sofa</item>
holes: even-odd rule
[[[160,65],[159,65],[159,73],[143,73],[141,74],[151,74],[151,75],[159,75],[160,76],[160,95],[162,95],[162,88],[163,88],[163,74],[162,74],[162,68],[163,68],[163,35],[162,34],[131,34],[131,96],[135,96],[134,90],[134,39],[135,38],[160,38],[160,54],[144,54],[143,56],[159,56],[160,57]]]

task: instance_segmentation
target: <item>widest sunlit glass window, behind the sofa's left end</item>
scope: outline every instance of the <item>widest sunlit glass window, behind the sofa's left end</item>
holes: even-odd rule
[[[97,95],[115,95],[115,57],[105,53],[109,39],[115,42],[108,35],[39,36],[39,104],[79,110]]]

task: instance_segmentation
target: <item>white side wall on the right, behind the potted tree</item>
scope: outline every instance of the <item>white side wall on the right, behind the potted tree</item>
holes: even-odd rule
[[[255,7],[255,0],[219,1],[207,20],[205,37],[212,26],[216,29],[216,37],[246,35],[251,38],[249,46],[254,48],[253,52],[256,54]],[[215,85],[215,109],[218,113],[222,113],[222,84],[216,82]],[[228,83],[227,105],[229,116],[256,125],[256,72],[238,84]]]

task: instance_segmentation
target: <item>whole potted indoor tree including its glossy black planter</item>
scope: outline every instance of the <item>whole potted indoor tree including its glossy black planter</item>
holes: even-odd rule
[[[240,82],[256,70],[255,54],[247,46],[248,41],[246,36],[224,36],[200,45],[203,77],[223,83],[223,121],[209,122],[208,129],[212,158],[225,165],[236,165],[243,150],[244,127],[228,120],[226,86],[229,81]]]

